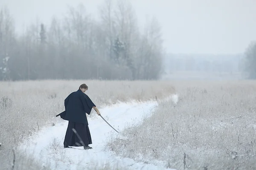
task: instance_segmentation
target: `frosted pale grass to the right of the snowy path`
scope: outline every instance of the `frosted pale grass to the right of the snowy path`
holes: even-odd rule
[[[251,170],[256,167],[256,82],[172,82],[175,106],[163,102],[138,127],[112,139],[123,157],[178,170]]]

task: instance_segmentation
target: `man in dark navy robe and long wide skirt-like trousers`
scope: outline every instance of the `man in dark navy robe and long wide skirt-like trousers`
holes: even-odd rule
[[[88,144],[92,144],[87,116],[92,108],[100,115],[96,105],[84,94],[88,90],[86,84],[82,84],[78,91],[72,92],[64,100],[65,111],[60,113],[62,119],[68,120],[67,132],[64,139],[64,147],[84,146],[84,150],[92,149]],[[58,115],[57,115],[58,116]],[[76,130],[76,133],[72,129]],[[79,136],[78,136],[79,135]],[[81,140],[80,140],[80,139]]]

